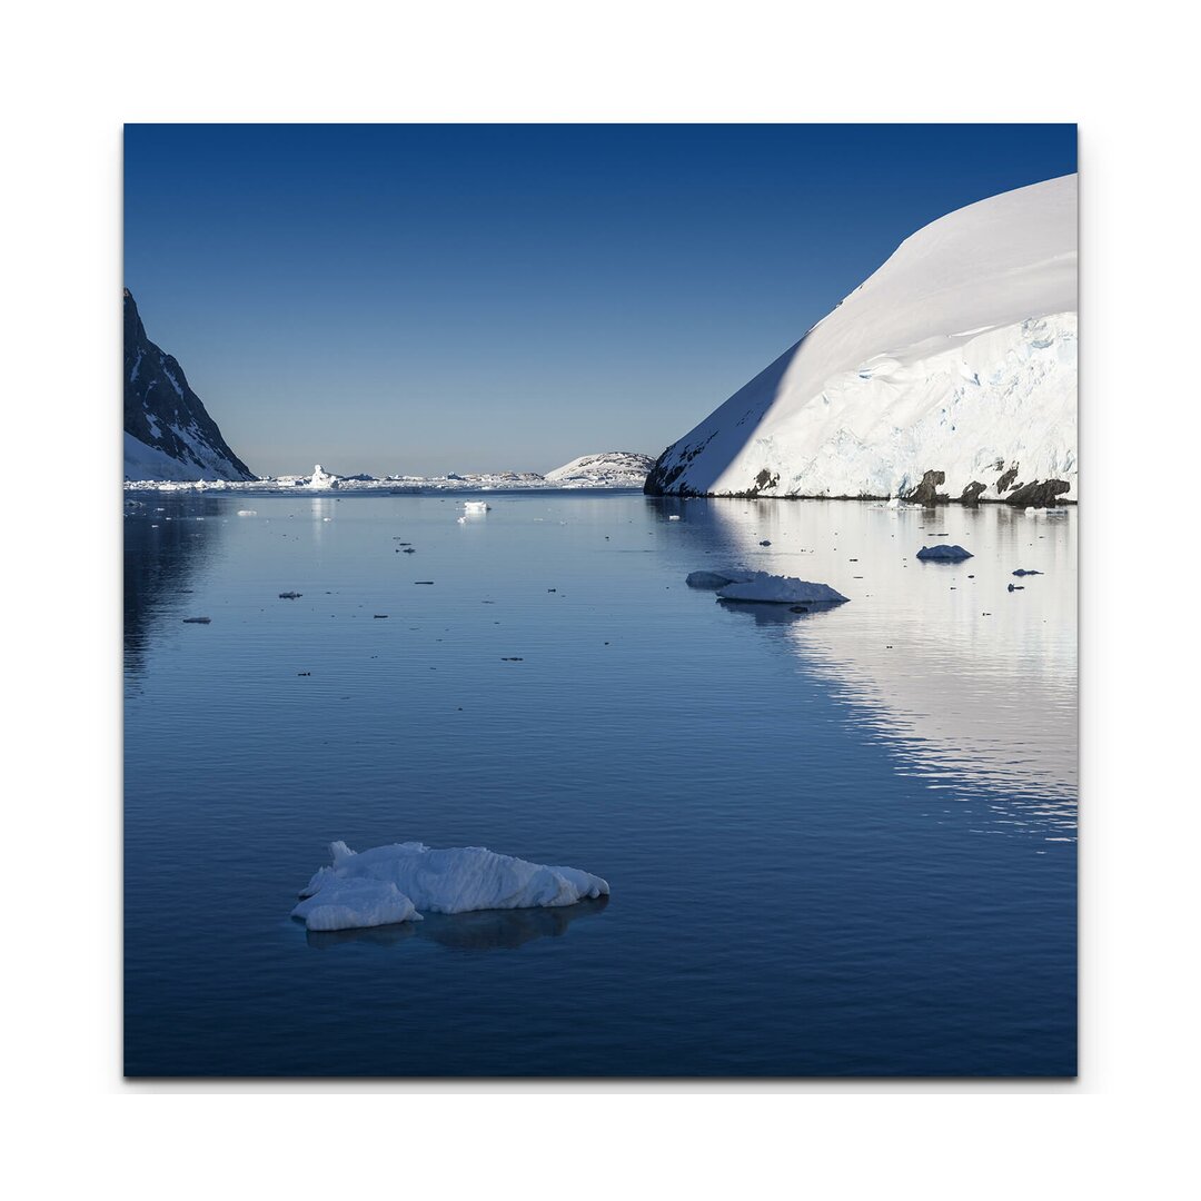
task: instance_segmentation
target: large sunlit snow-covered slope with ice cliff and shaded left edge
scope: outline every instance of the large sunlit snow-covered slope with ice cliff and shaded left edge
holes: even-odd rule
[[[646,491],[1075,500],[1076,177],[918,231]]]

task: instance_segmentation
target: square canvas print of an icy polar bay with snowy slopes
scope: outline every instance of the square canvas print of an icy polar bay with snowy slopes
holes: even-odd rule
[[[1075,1075],[1074,126],[124,173],[127,1076]]]

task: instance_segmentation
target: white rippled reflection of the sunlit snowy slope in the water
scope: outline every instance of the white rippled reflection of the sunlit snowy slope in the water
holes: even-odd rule
[[[999,814],[994,825],[1032,820],[1058,836],[1075,827],[1074,507],[657,503],[682,508],[694,528],[712,524],[723,549],[706,548],[709,556],[830,584],[852,598],[829,613],[723,608],[783,627],[806,670],[836,687],[902,770],[931,788],[981,785]],[[915,557],[944,542],[973,557]],[[1039,574],[1015,576],[1018,569]]]

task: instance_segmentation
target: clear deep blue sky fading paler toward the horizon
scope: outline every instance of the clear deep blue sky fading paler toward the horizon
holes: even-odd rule
[[[658,454],[1072,125],[131,125],[125,285],[262,474]]]

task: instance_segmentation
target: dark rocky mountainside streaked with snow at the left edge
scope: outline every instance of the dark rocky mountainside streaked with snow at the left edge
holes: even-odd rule
[[[125,478],[253,479],[229,449],[183,368],[147,337],[125,292]]]

